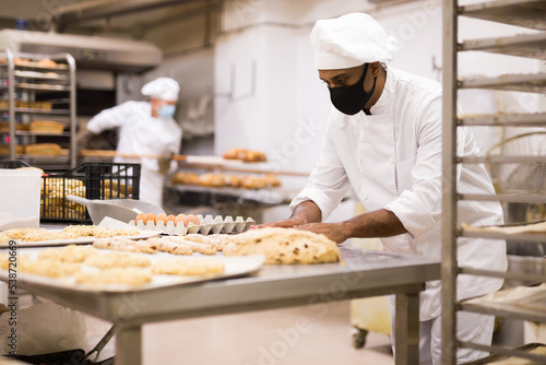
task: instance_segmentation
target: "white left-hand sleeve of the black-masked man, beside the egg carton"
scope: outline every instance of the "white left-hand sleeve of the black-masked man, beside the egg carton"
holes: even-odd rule
[[[345,168],[335,150],[334,132],[331,130],[332,125],[332,122],[329,122],[327,138],[317,167],[309,176],[306,187],[290,203],[290,209],[294,210],[299,203],[312,200],[319,207],[322,220],[325,220],[332,213],[351,186]]]

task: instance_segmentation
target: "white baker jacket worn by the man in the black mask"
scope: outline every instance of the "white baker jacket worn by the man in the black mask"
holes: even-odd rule
[[[349,187],[366,211],[392,211],[408,233],[381,238],[387,251],[441,259],[442,98],[436,81],[393,68],[387,72],[383,92],[371,107],[347,116],[333,108],[318,166],[290,207],[312,200],[322,219],[335,209]],[[478,154],[467,129],[458,133],[458,154]],[[459,191],[494,193],[483,165],[458,169]],[[449,178],[449,177],[446,177]],[[459,203],[459,221],[472,225],[502,223],[498,202]],[[460,266],[505,271],[503,240],[460,238]],[[497,291],[502,280],[460,275],[460,299]],[[420,296],[420,320],[441,314],[440,281],[428,282]]]

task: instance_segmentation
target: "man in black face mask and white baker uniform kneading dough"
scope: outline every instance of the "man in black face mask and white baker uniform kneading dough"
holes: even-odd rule
[[[311,44],[319,78],[327,84],[334,108],[318,166],[292,201],[293,215],[269,226],[308,229],[340,244],[351,237],[381,237],[388,251],[439,260],[441,85],[383,63],[391,60],[396,40],[364,13],[318,21]],[[464,156],[478,153],[468,130],[459,134],[458,151]],[[456,178],[462,192],[495,192],[483,165],[465,165]],[[320,223],[349,187],[367,213],[341,223]],[[472,225],[502,222],[497,202],[461,202],[460,212],[460,217]],[[458,252],[462,266],[499,271],[507,268],[505,242],[463,238]],[[459,297],[490,293],[501,284],[499,279],[462,275],[458,281]],[[490,316],[458,316],[462,341],[490,343],[492,327]],[[427,283],[420,296],[422,364],[440,364],[440,282],[435,281]],[[484,355],[462,349],[458,361]]]

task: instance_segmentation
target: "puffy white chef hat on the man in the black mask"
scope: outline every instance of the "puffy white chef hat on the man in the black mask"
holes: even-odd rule
[[[311,32],[311,45],[317,69],[335,70],[390,61],[399,43],[370,15],[349,13],[318,21]]]

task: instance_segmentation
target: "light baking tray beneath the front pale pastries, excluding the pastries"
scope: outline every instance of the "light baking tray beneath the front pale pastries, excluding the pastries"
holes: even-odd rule
[[[44,248],[25,248],[19,250],[19,254],[28,255],[32,259],[35,259],[43,249]],[[98,249],[98,251],[100,254],[120,252],[108,249]],[[206,276],[204,275],[180,276],[180,275],[153,274],[153,280],[151,283],[139,286],[132,286],[128,284],[100,284],[100,285],[76,284],[74,278],[52,279],[23,272],[17,272],[16,280],[19,283],[34,283],[55,289],[67,289],[67,290],[94,292],[94,293],[124,293],[124,292],[146,291],[165,286],[194,284],[213,280],[245,276],[260,270],[260,268],[265,261],[265,257],[263,255],[225,257],[222,254],[216,254],[214,256],[201,255],[201,254],[193,254],[191,256],[180,256],[180,255],[171,255],[168,252],[157,252],[157,254],[130,252],[130,254],[138,256],[145,256],[147,259],[150,259],[150,261],[152,261],[152,264],[163,259],[173,259],[173,258],[180,260],[194,260],[194,259],[214,260],[223,262],[225,264],[225,271],[223,274],[206,275]],[[97,270],[98,269],[96,268],[82,266],[82,272],[84,271],[91,272]],[[0,280],[2,281],[9,280],[7,270],[0,270]]]

